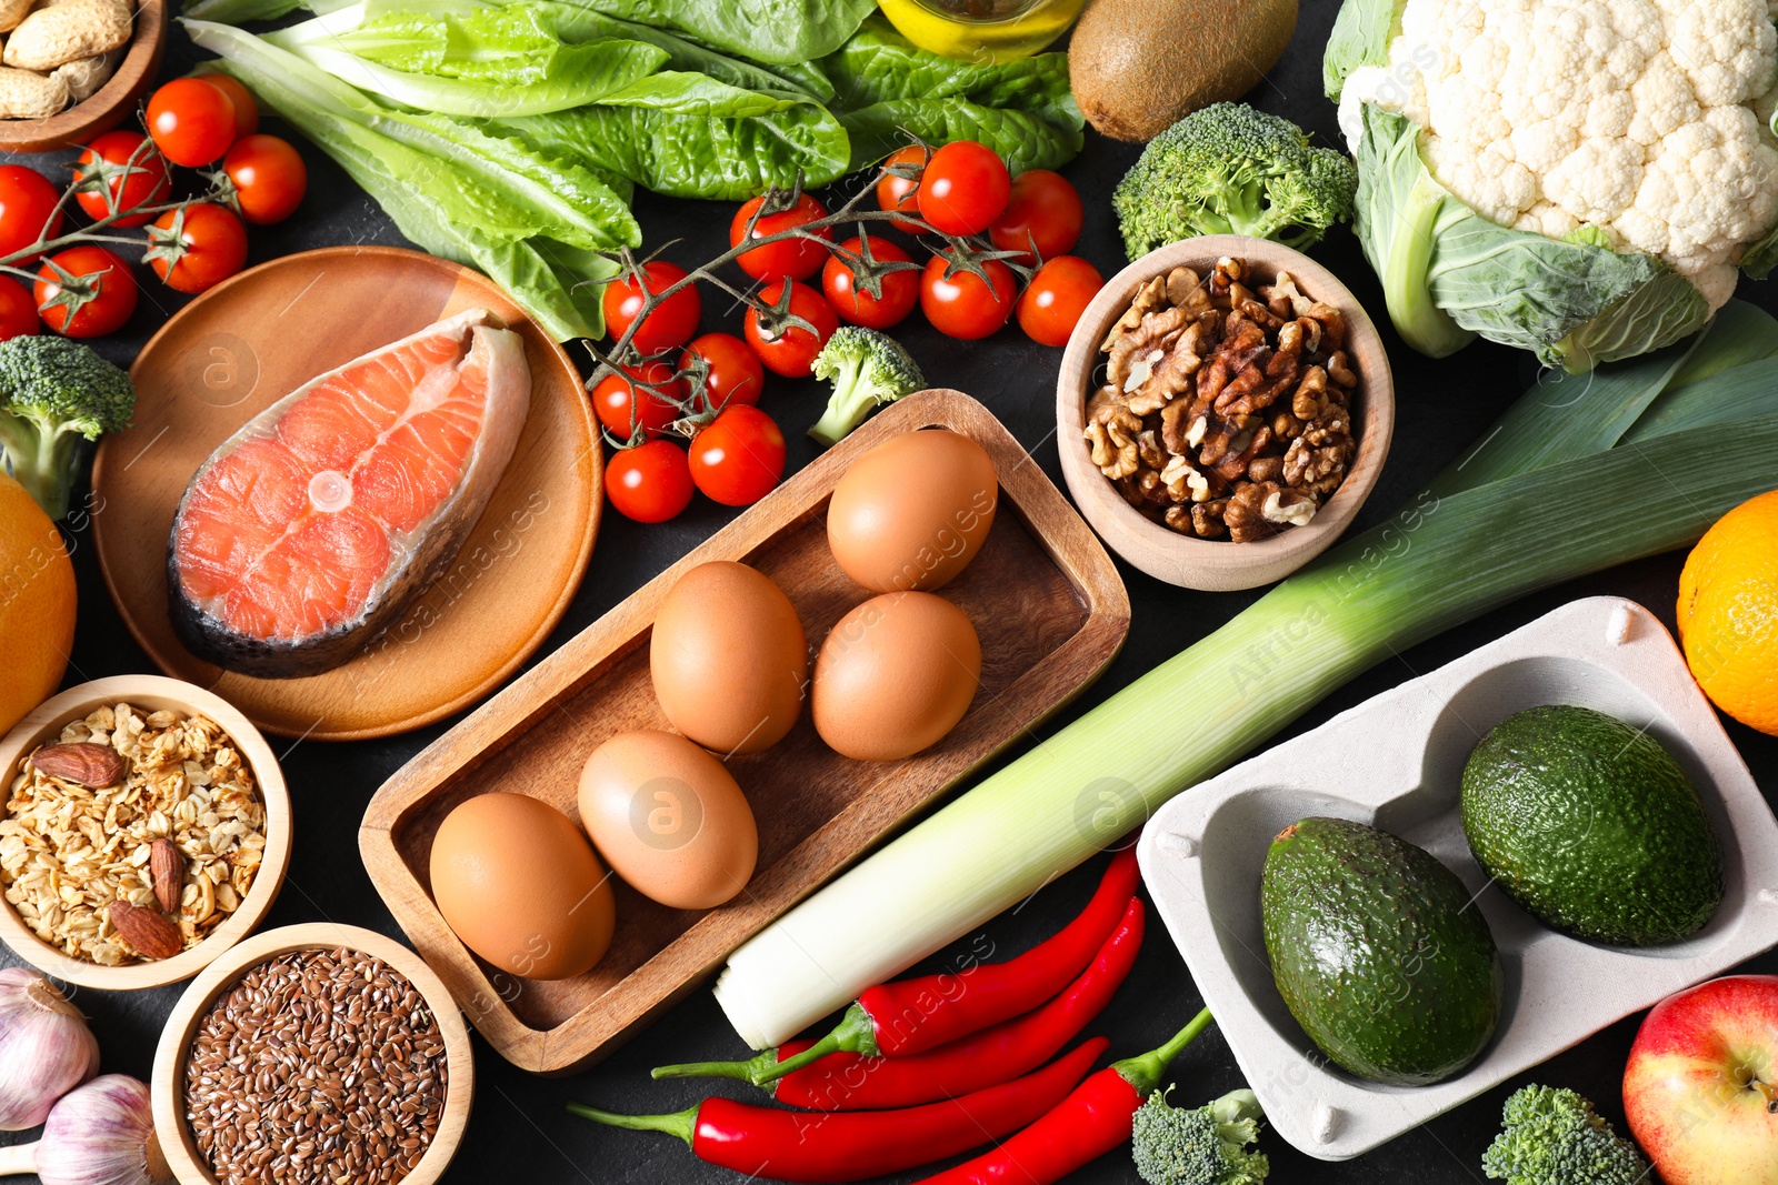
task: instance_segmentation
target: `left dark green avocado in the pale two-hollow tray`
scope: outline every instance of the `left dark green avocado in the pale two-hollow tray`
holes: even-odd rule
[[[1271,842],[1259,904],[1278,993],[1341,1068],[1428,1086],[1494,1038],[1494,934],[1424,847],[1362,823],[1301,819]]]

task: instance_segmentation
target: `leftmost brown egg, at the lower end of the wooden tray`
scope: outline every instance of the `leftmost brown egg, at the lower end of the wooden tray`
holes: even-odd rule
[[[571,979],[612,945],[612,885],[574,821],[526,794],[478,794],[432,837],[432,899],[512,975]]]

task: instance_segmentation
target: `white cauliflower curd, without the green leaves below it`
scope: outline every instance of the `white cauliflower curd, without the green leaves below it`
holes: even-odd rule
[[[1657,256],[1718,309],[1778,226],[1774,14],[1767,0],[1406,0],[1389,66],[1346,78],[1341,128],[1357,151],[1362,103],[1399,112],[1479,215]]]

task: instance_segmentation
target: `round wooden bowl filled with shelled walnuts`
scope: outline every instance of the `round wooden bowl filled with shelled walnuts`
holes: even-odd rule
[[[1211,235],[1118,272],[1056,380],[1061,473],[1106,545],[1182,588],[1303,567],[1376,489],[1396,391],[1376,325],[1332,272]]]

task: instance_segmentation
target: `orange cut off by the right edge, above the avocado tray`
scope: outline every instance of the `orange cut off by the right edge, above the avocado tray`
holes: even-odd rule
[[[1698,540],[1678,577],[1678,636],[1710,702],[1778,736],[1778,490]]]

